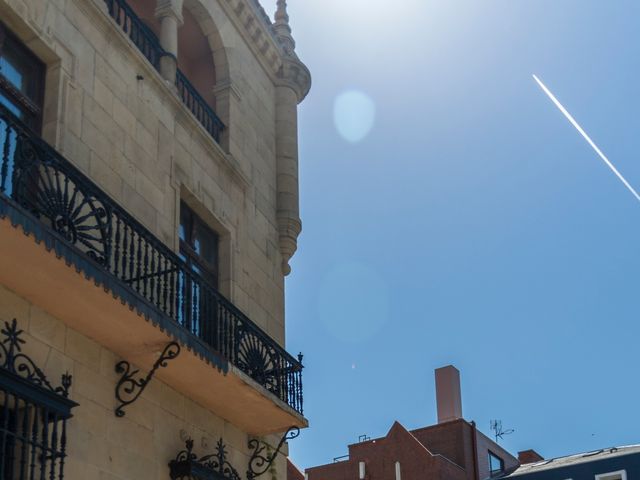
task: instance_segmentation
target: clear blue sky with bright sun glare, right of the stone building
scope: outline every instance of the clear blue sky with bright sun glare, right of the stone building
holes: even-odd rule
[[[290,0],[289,11],[314,79],[287,278],[311,422],[294,461],[331,462],[394,420],[435,423],[433,370],[449,363],[465,418],[514,428],[502,442],[514,453],[639,442],[640,203],[531,74],[640,187],[640,3]],[[345,92],[371,102],[361,118],[338,115],[352,134],[375,111],[357,142],[334,118]]]

